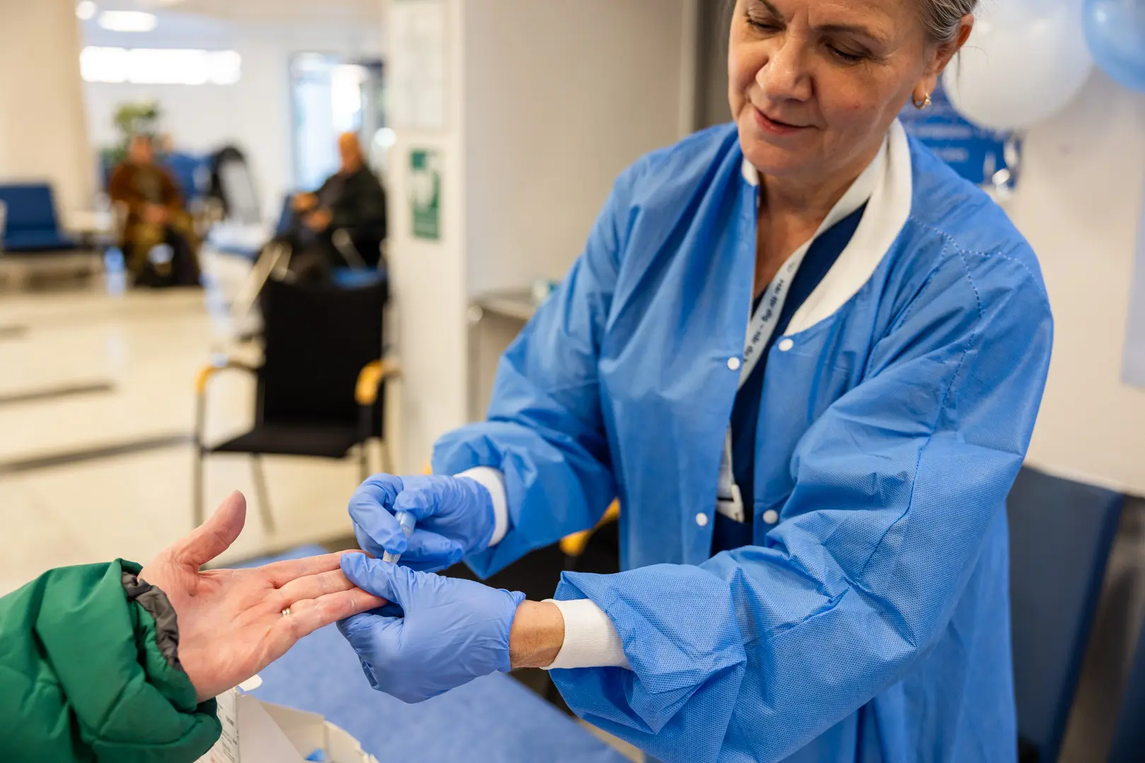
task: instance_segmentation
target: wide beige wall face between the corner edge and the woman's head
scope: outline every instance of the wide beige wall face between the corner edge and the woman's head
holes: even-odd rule
[[[562,278],[617,174],[680,138],[682,7],[467,3],[471,293]]]

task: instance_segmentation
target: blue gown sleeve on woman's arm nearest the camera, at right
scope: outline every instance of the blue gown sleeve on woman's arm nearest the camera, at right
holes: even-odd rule
[[[632,668],[553,670],[570,708],[664,761],[779,761],[938,642],[1002,520],[1052,342],[1020,260],[972,256],[935,267],[802,438],[766,546],[564,573],[556,598],[605,610]]]

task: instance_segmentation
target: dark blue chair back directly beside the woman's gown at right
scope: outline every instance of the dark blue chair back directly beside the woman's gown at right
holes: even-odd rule
[[[1033,469],[1006,500],[1020,761],[1058,760],[1123,502]]]

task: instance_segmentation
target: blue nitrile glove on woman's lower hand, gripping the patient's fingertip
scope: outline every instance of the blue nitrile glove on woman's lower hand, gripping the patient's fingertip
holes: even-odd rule
[[[364,554],[344,556],[342,572],[392,602],[338,623],[378,691],[413,704],[510,669],[508,634],[524,594]]]

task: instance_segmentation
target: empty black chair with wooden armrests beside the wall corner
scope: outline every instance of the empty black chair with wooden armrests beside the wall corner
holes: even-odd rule
[[[203,523],[204,460],[211,453],[252,456],[259,506],[263,522],[273,528],[261,456],[345,459],[357,446],[365,479],[370,474],[366,443],[382,437],[385,383],[397,374],[394,364],[381,359],[385,285],[308,288],[271,279],[262,299],[262,365],[252,368],[223,360],[204,368],[196,383],[196,526]],[[203,436],[207,382],[224,368],[254,374],[255,426],[208,446]],[[382,458],[390,461],[385,440]]]

